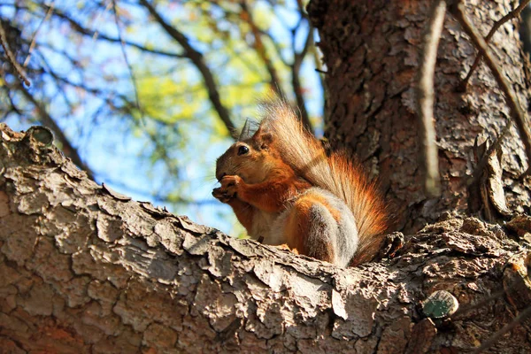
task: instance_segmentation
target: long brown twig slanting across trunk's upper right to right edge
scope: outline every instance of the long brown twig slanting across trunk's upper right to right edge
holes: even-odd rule
[[[518,128],[520,139],[524,143],[527,155],[527,165],[529,166],[526,173],[529,173],[531,170],[531,131],[529,123],[527,122],[527,115],[519,106],[516,95],[511,85],[509,85],[504,75],[501,73],[500,65],[497,63],[496,58],[490,53],[488,44],[483,40],[483,37],[473,26],[473,23],[466,18],[465,5],[459,1],[457,4],[453,4],[450,9],[453,16],[458,19],[466,34],[472,39],[474,46],[485,58],[485,62],[489,65],[490,72],[494,75],[500,89],[504,92],[505,101],[511,110],[512,119]]]

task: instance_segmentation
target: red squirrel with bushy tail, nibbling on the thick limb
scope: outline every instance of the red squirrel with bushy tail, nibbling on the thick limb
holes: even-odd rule
[[[327,154],[283,99],[262,106],[254,134],[246,122],[217,159],[212,196],[259,242],[342,267],[372,260],[388,219],[376,183],[343,153]]]

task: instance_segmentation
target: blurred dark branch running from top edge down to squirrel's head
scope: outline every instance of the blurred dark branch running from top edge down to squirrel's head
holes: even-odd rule
[[[192,47],[190,44],[189,39],[176,27],[173,27],[167,23],[147,0],[140,0],[140,4],[142,4],[150,12],[151,16],[153,16],[158,24],[164,28],[168,35],[170,35],[176,42],[181,44],[182,49],[185,51],[184,56],[189,58],[192,63],[196,65],[197,70],[199,70],[203,76],[204,86],[208,91],[208,96],[214,109],[216,112],[218,112],[219,118],[221,121],[223,121],[229,132],[233,131],[235,129],[235,125],[230,119],[227,108],[221,103],[218,85],[214,80],[214,76],[212,75],[210,68],[204,63],[203,54],[194,49],[194,47]]]

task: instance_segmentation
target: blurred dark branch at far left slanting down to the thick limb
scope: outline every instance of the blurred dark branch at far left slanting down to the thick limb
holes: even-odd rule
[[[53,119],[50,114],[46,112],[44,107],[42,107],[42,104],[40,104],[23,85],[18,84],[17,88],[27,98],[27,100],[35,106],[36,110],[41,116],[42,124],[46,127],[50,127],[58,141],[63,144],[63,151],[65,152],[66,156],[72,158],[73,163],[78,165],[81,170],[85,171],[89,178],[94,181],[94,173],[92,173],[89,166],[85,165],[85,163],[81,160],[77,149],[73,147],[72,143],[68,140],[65,133],[63,133],[63,130],[58,126],[55,119]]]

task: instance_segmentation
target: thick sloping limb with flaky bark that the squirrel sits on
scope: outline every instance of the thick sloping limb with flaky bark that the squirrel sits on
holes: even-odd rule
[[[99,186],[50,136],[0,126],[3,352],[466,352],[531,303],[531,257],[502,227],[447,219],[341,269]],[[435,290],[460,312],[427,319]],[[493,348],[529,352],[530,325]]]

